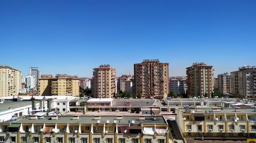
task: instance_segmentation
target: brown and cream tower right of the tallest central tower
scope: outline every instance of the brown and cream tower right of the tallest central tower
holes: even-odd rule
[[[188,96],[211,96],[214,91],[214,69],[205,63],[194,63],[186,68]]]

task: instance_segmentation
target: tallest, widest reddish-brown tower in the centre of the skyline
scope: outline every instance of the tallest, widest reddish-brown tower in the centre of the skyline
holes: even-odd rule
[[[134,91],[145,98],[165,98],[169,93],[169,64],[159,60],[134,64]]]

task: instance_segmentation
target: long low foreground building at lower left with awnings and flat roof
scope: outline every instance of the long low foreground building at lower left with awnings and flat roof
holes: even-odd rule
[[[0,123],[4,142],[174,142],[162,116],[18,117]]]

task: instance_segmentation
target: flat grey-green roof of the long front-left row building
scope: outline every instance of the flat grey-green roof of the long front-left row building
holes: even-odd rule
[[[73,120],[72,116],[58,116],[58,120],[50,120],[51,116],[44,116],[44,119],[35,119],[32,120],[28,116],[18,117],[16,121],[6,121],[5,123],[34,123],[34,124],[97,124],[97,120],[94,120],[94,116],[80,116],[79,120]],[[100,116],[100,124],[106,123],[107,120],[110,120],[110,124],[114,123],[116,116]],[[132,121],[135,121],[135,124],[140,124],[139,116],[123,116],[122,120],[117,120],[117,124],[129,124]],[[167,124],[163,116],[156,117],[156,120],[152,120],[151,117],[145,117],[145,120],[142,120],[142,124]]]

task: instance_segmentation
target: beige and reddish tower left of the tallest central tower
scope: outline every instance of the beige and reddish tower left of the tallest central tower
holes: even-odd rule
[[[111,98],[116,94],[116,69],[100,65],[93,69],[93,93],[95,98]]]

